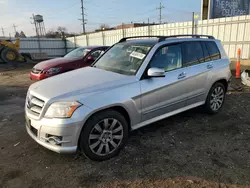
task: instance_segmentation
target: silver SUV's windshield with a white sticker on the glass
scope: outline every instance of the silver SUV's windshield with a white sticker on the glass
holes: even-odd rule
[[[135,75],[153,44],[116,44],[94,65],[125,75]]]

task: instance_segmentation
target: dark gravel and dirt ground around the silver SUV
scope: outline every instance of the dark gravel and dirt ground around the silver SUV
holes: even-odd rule
[[[248,92],[230,92],[217,115],[197,108],[131,132],[119,156],[93,162],[28,136],[30,68],[0,67],[0,187],[250,187]]]

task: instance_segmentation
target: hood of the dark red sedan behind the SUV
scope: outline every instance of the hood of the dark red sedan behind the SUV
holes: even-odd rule
[[[75,59],[67,59],[63,57],[55,58],[55,59],[50,59],[47,61],[42,61],[36,64],[34,68],[39,69],[39,70],[44,70],[44,69],[53,68],[55,66],[60,66],[61,64],[64,64],[64,63],[70,63],[72,61],[75,61]]]

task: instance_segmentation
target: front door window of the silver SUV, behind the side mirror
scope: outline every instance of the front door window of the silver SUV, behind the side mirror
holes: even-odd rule
[[[160,48],[153,56],[150,67],[171,71],[182,67],[181,45],[170,45]]]

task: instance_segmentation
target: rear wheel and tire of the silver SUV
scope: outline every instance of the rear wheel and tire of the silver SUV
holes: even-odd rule
[[[216,82],[208,93],[206,103],[204,105],[205,111],[209,114],[218,113],[224,104],[225,96],[225,86],[220,82]]]

